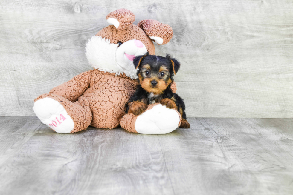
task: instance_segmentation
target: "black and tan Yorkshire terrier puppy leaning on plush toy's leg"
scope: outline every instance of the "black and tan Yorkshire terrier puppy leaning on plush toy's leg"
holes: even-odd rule
[[[138,69],[138,89],[127,103],[126,113],[140,115],[149,104],[161,103],[167,108],[175,108],[182,117],[180,128],[190,128],[185,114],[183,99],[173,93],[170,86],[173,76],[178,72],[180,63],[166,54],[166,57],[149,55],[137,56],[133,60]]]

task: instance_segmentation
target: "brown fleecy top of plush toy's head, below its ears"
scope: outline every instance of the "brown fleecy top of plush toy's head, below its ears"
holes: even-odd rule
[[[129,25],[128,28],[120,31],[117,30],[115,26],[110,25],[100,30],[96,36],[105,37],[106,39],[109,39],[111,43],[115,44],[117,44],[119,41],[124,43],[132,39],[137,39],[146,46],[149,54],[155,55],[155,46],[152,43],[152,39],[150,39],[142,29],[133,24]]]

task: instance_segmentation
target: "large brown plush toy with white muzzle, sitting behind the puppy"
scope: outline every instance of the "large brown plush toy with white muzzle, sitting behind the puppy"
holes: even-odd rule
[[[96,128],[116,128],[145,134],[164,134],[181,122],[176,109],[152,104],[139,116],[125,114],[125,105],[136,90],[135,56],[155,54],[153,40],[166,44],[172,28],[156,20],[133,25],[135,15],[126,9],[109,13],[112,24],[92,36],[86,44],[88,62],[94,68],[35,99],[38,118],[58,133]],[[176,91],[176,84],[173,85]]]

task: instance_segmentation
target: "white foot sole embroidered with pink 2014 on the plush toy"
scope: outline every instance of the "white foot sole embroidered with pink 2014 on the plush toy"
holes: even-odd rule
[[[33,105],[33,111],[42,123],[57,133],[70,133],[74,128],[74,122],[64,107],[52,98],[37,100]]]

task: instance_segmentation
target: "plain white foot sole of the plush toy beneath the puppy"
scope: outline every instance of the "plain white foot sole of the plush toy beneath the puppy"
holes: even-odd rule
[[[158,104],[137,117],[135,130],[142,134],[166,134],[177,129],[179,122],[178,112]]]

